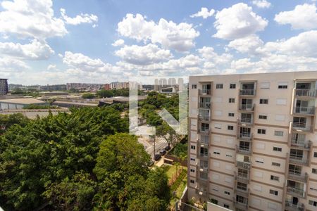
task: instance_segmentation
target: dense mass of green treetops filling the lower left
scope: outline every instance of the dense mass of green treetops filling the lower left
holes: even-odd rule
[[[120,112],[80,108],[20,119],[0,136],[5,210],[166,209],[166,175],[148,170],[149,155],[135,136],[120,134],[128,132]]]

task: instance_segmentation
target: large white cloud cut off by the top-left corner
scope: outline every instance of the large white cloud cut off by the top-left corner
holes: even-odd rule
[[[0,32],[18,37],[63,36],[67,34],[63,20],[54,17],[51,0],[2,1]]]

